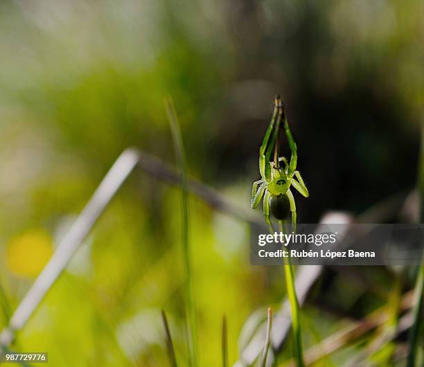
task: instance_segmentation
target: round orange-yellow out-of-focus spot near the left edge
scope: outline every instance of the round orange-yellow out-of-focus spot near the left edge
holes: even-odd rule
[[[36,230],[17,235],[8,243],[6,263],[17,276],[35,278],[53,253],[51,236]]]

